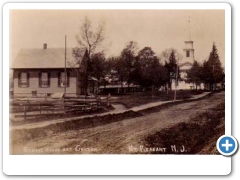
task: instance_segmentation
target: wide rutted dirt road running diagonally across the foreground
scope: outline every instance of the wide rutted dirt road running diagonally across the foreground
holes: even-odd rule
[[[161,129],[186,122],[197,113],[213,108],[225,98],[224,92],[194,102],[175,105],[156,113],[94,128],[49,134],[16,144],[11,154],[129,154],[136,153],[143,139]]]

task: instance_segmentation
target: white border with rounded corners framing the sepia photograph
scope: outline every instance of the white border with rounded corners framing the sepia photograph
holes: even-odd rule
[[[11,9],[225,10],[225,134],[231,135],[231,6],[227,3],[7,3],[3,7],[3,75],[9,75]],[[203,166],[204,164],[204,166]],[[222,155],[9,155],[9,78],[3,78],[3,172],[7,175],[227,175]]]

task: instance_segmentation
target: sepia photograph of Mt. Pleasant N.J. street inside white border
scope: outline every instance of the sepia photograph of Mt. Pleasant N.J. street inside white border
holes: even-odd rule
[[[10,155],[220,154],[224,9],[11,9],[9,38]]]

